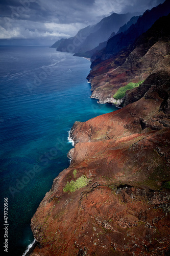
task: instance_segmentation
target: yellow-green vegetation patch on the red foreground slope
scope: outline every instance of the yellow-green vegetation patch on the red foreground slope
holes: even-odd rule
[[[70,182],[67,182],[67,184],[63,188],[63,191],[75,192],[77,189],[85,187],[89,183],[89,181],[90,179],[87,179],[86,176],[83,175],[80,178],[78,178],[76,181],[71,180]]]

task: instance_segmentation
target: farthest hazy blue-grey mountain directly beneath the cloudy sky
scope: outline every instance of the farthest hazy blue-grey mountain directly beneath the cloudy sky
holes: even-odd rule
[[[57,45],[57,51],[82,53],[97,47],[100,42],[107,41],[110,35],[116,33],[121,26],[126,24],[134,13],[116,14],[105,17],[101,22],[81,29],[76,36],[61,39]],[[53,46],[54,46],[53,45]]]

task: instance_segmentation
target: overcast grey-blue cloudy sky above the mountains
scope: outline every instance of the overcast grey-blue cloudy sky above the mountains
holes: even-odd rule
[[[52,45],[111,13],[140,12],[165,0],[1,0],[0,45]]]

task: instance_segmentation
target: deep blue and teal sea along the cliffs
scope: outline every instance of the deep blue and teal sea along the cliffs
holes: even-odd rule
[[[69,166],[71,126],[116,110],[90,98],[89,71],[87,59],[54,48],[0,47],[1,249],[7,231],[8,255],[34,241],[31,218]]]

